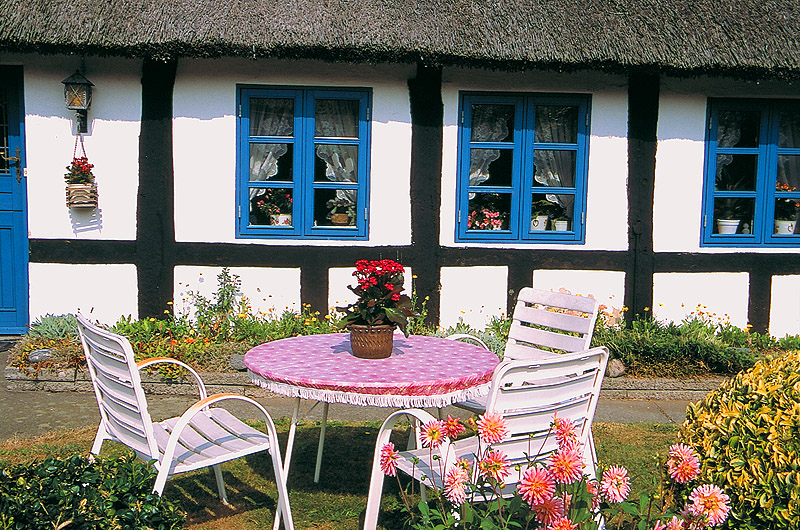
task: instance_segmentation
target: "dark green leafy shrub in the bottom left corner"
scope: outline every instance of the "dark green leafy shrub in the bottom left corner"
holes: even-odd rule
[[[151,493],[155,475],[133,455],[94,463],[75,455],[4,468],[0,528],[183,528],[178,507]]]

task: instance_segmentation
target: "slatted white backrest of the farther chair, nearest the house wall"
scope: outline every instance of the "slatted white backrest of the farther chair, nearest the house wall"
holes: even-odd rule
[[[599,304],[594,298],[523,288],[503,359],[542,359],[591,347]]]

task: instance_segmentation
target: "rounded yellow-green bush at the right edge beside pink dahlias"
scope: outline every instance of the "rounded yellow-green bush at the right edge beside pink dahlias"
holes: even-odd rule
[[[679,438],[731,498],[730,528],[800,528],[800,352],[760,361],[690,405]]]

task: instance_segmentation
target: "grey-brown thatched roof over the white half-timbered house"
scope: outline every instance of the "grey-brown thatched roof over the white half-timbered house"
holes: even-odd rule
[[[800,77],[800,1],[0,0],[0,50]]]

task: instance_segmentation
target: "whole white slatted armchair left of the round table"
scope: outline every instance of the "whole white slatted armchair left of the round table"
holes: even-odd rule
[[[228,504],[220,464],[269,451],[278,486],[276,515],[283,514],[287,530],[294,528],[278,434],[264,407],[238,394],[209,396],[197,372],[176,359],[157,357],[136,363],[128,339],[99,328],[82,315],[78,315],[78,330],[100,407],[100,426],[92,454],[100,452],[104,441],[114,440],[131,448],[145,462],[155,460],[158,475],[153,492],[159,495],[169,476],[212,466],[220,499]],[[180,417],[154,423],[147,410],[139,370],[157,363],[175,364],[192,374],[200,400]],[[212,407],[225,400],[239,400],[255,406],[264,415],[267,433],[244,424],[223,408]]]

